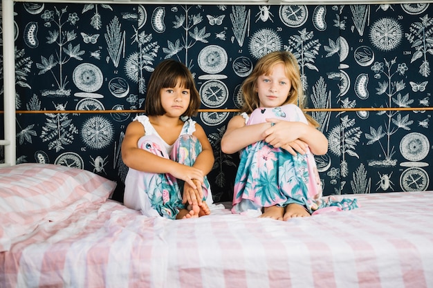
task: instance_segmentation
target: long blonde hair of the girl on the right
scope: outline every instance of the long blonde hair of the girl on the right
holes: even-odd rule
[[[259,95],[256,92],[257,79],[261,75],[269,75],[271,70],[276,64],[284,64],[286,68],[286,76],[291,81],[291,90],[288,93],[288,97],[283,105],[285,104],[296,104],[302,110],[306,106],[306,97],[304,90],[302,89],[302,81],[300,68],[297,64],[295,56],[288,51],[275,51],[261,57],[257,61],[256,66],[252,70],[252,73],[243,81],[242,93],[243,93],[243,106],[241,112],[252,113],[256,108],[259,108]],[[310,115],[305,114],[306,119],[310,124],[316,128],[319,124]]]

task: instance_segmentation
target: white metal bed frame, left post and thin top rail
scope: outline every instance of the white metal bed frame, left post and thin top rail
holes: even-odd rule
[[[25,2],[19,0],[17,2]],[[1,0],[2,6],[2,25],[3,25],[3,101],[4,101],[4,140],[0,140],[0,146],[4,146],[5,163],[0,166],[9,166],[16,164],[16,124],[15,124],[15,41],[14,41],[14,2],[13,0]],[[89,0],[32,0],[31,2],[64,2],[64,3],[89,3]],[[378,0],[224,0],[223,3],[230,5],[284,5],[284,4],[304,4],[304,5],[333,5],[333,4],[380,4],[386,5],[390,3],[418,3],[419,1],[412,0],[393,0],[393,1],[378,1]],[[431,3],[433,0],[422,1]],[[221,0],[93,0],[91,3],[116,3],[116,4],[221,4]]]

